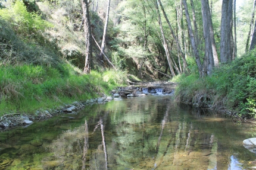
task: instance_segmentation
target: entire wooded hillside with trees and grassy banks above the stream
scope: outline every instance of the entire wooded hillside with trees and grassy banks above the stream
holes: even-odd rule
[[[256,116],[256,1],[0,1],[0,110],[33,113],[130,81]],[[254,25],[255,24],[255,25]]]

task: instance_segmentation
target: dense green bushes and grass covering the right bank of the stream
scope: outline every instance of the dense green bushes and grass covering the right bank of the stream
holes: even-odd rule
[[[216,68],[200,79],[196,73],[176,78],[176,100],[232,110],[241,117],[256,117],[256,50]]]

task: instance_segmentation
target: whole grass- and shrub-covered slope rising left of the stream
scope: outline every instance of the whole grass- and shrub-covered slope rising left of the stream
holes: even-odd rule
[[[83,31],[67,24],[64,7],[35,1],[4,4],[0,7],[0,116],[85,101],[126,83],[126,72],[104,69],[95,57],[92,69],[98,71],[82,74]]]

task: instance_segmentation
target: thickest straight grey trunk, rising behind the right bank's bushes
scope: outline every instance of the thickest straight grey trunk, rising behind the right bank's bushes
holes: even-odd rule
[[[223,0],[221,7],[221,25],[220,25],[220,62],[227,63],[233,56],[232,40],[232,18],[233,18],[233,0]]]

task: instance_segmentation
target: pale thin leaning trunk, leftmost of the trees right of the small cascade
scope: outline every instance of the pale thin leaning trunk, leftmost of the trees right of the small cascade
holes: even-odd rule
[[[158,24],[159,24],[160,30],[161,30],[161,35],[162,35],[162,39],[163,39],[164,50],[166,50],[166,57],[167,57],[168,65],[169,65],[169,68],[170,68],[170,70],[171,70],[171,75],[174,77],[174,76],[175,76],[175,73],[174,73],[173,66],[172,66],[172,62],[171,62],[171,59],[170,59],[170,52],[169,52],[169,49],[168,49],[168,44],[167,44],[167,42],[166,42],[166,37],[164,36],[164,30],[163,30],[163,25],[162,25],[162,21],[161,21],[161,16],[160,16],[160,11],[159,11],[159,8],[158,8],[158,2],[157,2],[157,0],[155,1],[155,8],[157,9]]]

